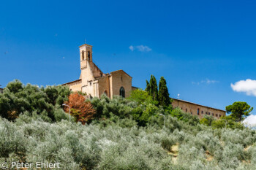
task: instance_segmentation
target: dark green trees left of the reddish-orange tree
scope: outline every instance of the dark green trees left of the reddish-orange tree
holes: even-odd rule
[[[21,113],[29,112],[45,115],[49,121],[56,121],[60,116],[60,105],[67,101],[69,94],[69,88],[64,86],[39,88],[37,85],[23,85],[15,80],[4,88],[4,93],[0,93],[0,115],[7,120],[15,120]]]

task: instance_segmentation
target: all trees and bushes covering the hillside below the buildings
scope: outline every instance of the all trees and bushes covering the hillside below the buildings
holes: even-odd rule
[[[255,130],[232,117],[199,120],[144,90],[127,99],[103,95],[75,103],[76,97],[83,101],[65,87],[10,82],[0,94],[0,162],[59,162],[61,169],[256,169]],[[73,104],[70,123],[63,103]]]

